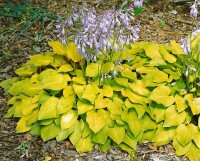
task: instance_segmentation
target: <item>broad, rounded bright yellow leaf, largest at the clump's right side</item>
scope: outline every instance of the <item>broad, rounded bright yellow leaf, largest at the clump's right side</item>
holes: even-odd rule
[[[157,103],[163,104],[165,107],[168,107],[174,103],[174,97],[169,96],[170,93],[171,89],[169,87],[161,85],[152,91],[149,98]]]

